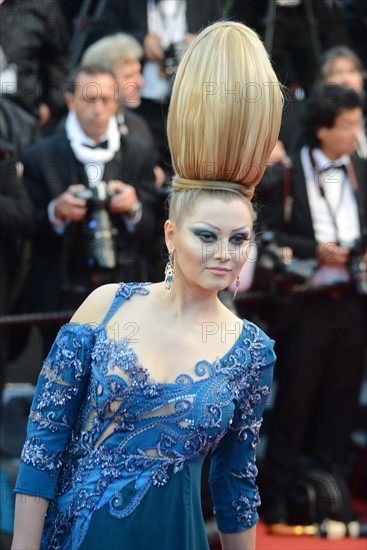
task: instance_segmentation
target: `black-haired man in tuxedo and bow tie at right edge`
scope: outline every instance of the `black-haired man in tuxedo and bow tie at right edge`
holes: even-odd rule
[[[296,258],[317,259],[319,267],[309,291],[293,297],[277,342],[279,386],[262,480],[268,524],[290,519],[287,489],[303,453],[313,466],[348,474],[366,336],[366,272],[363,284],[363,273],[354,270],[354,260],[361,269],[367,261],[366,161],[357,165],[353,157],[362,113],[354,90],[315,88],[303,147],[292,157],[291,208],[270,228],[278,245]],[[272,205],[284,206],[282,187],[274,186]]]

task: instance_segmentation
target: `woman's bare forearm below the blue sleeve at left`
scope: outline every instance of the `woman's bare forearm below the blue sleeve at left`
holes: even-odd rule
[[[38,550],[49,500],[17,493],[11,550]]]

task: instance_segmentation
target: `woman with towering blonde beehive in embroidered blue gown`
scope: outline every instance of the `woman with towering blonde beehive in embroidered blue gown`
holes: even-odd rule
[[[246,261],[281,112],[251,29],[220,22],[194,39],[168,118],[165,281],[102,286],[60,329],[30,413],[14,549],[204,550],[209,453],[222,547],[254,549],[273,342],[217,294]]]

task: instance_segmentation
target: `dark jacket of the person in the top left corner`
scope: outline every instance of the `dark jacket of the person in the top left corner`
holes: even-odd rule
[[[19,105],[38,117],[46,103],[52,115],[65,110],[69,36],[55,0],[5,0],[0,6],[0,43],[18,70]]]

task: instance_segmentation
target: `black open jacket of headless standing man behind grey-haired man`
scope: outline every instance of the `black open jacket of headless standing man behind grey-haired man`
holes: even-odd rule
[[[221,0],[186,0],[189,33],[197,33],[223,17]],[[143,43],[148,33],[147,0],[108,0],[101,17],[90,28],[86,47],[116,32],[133,35]]]

